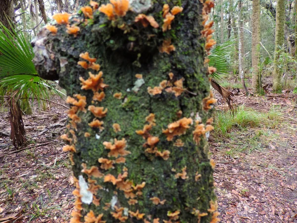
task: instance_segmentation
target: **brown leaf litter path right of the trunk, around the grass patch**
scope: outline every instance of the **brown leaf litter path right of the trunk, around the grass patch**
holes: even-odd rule
[[[256,148],[248,141],[252,128],[219,143],[210,139],[221,222],[297,223],[297,97],[241,95],[237,102],[259,112],[277,108],[283,119],[264,129]]]

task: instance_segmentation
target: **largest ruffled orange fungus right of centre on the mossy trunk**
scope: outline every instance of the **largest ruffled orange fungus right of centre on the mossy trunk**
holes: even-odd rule
[[[186,131],[190,128],[189,125],[191,124],[193,124],[192,118],[183,117],[182,119],[169,124],[168,128],[165,130],[163,129],[162,132],[167,136],[167,141],[172,141],[174,136],[186,134]]]

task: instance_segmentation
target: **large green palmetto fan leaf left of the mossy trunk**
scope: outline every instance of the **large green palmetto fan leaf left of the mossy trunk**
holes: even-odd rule
[[[42,79],[32,62],[34,57],[30,43],[21,31],[8,30],[0,22],[0,95],[14,97],[28,103],[32,98],[49,98],[49,90],[62,96],[53,86]],[[32,100],[32,102],[33,102]]]

